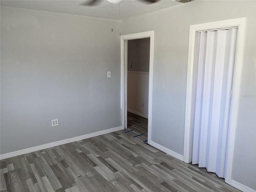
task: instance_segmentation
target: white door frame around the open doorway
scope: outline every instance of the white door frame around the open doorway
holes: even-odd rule
[[[132,39],[150,38],[149,56],[149,82],[148,82],[148,144],[151,142],[152,127],[152,84],[153,84],[153,56],[154,56],[154,31],[121,35],[121,116],[122,129],[127,125],[127,41]]]

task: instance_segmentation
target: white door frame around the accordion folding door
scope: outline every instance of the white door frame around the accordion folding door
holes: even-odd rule
[[[236,53],[234,63],[233,85],[232,85],[232,99],[230,103],[230,120],[227,141],[226,154],[226,177],[225,182],[231,184],[232,165],[234,156],[234,143],[236,136],[236,121],[238,114],[238,101],[240,93],[240,80],[242,72],[242,60],[244,52],[244,37],[245,37],[246,17],[229,19],[217,22],[210,22],[204,24],[190,25],[189,44],[188,44],[188,74],[187,74],[187,89],[186,89],[186,110],[185,110],[185,130],[184,130],[184,152],[183,161],[190,163],[191,148],[192,148],[192,120],[193,120],[193,98],[194,98],[194,52],[195,52],[195,38],[196,32],[212,29],[223,29],[238,27],[236,39]]]

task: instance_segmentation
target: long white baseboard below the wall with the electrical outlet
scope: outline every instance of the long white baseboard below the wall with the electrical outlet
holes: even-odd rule
[[[77,137],[63,139],[63,140],[60,140],[60,141],[46,143],[46,144],[42,144],[42,145],[39,145],[39,146],[35,146],[35,147],[27,148],[27,149],[22,149],[22,150],[18,150],[18,151],[6,153],[6,154],[1,154],[0,159],[2,160],[2,159],[18,156],[18,155],[23,155],[23,154],[26,154],[26,153],[35,152],[35,151],[38,151],[38,150],[47,149],[47,148],[50,148],[50,147],[55,147],[55,146],[59,146],[59,145],[63,145],[63,144],[67,144],[67,143],[71,143],[71,142],[75,142],[75,141],[80,141],[80,140],[83,140],[83,139],[88,139],[88,138],[91,138],[91,137],[111,133],[111,132],[114,132],[114,131],[119,131],[121,129],[122,129],[122,127],[119,126],[119,127],[110,128],[110,129],[106,129],[106,130],[102,130],[102,131],[97,131],[97,132],[94,132],[94,133],[89,133],[89,134],[85,134],[85,135],[81,135],[81,136],[77,136]]]

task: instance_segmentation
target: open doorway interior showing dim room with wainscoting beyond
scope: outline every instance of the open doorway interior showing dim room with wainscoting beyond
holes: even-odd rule
[[[150,38],[128,40],[127,128],[148,138]]]

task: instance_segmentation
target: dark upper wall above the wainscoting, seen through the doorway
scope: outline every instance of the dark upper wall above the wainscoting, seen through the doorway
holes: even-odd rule
[[[128,71],[149,72],[150,38],[128,40]]]

